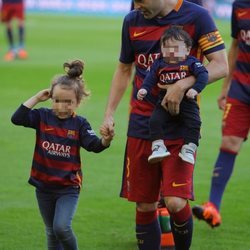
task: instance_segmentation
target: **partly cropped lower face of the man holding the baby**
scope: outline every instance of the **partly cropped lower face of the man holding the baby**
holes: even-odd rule
[[[134,0],[134,4],[146,19],[165,16],[166,4],[163,0]]]

